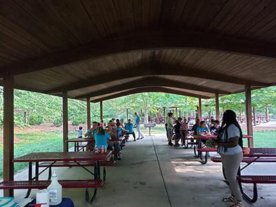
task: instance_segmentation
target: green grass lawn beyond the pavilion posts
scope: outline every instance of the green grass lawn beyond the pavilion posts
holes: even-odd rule
[[[148,135],[148,128],[141,127],[144,135]],[[136,132],[136,130],[135,130]],[[152,128],[152,135],[164,134],[164,127],[157,126]],[[246,134],[246,132],[244,132]],[[62,132],[28,132],[17,133],[14,135],[19,142],[14,144],[14,157],[26,155],[30,152],[59,152],[63,150]],[[69,134],[70,138],[76,137],[75,132]],[[72,147],[70,144],[69,147]],[[247,146],[247,141],[244,140],[244,146]],[[256,131],[254,132],[254,146],[264,148],[276,148],[276,130]],[[20,172],[27,167],[27,163],[15,163],[14,172]],[[0,145],[0,177],[3,175],[3,145]]]

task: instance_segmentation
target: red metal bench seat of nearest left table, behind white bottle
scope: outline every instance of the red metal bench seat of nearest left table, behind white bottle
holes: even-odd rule
[[[0,189],[43,189],[50,185],[50,180],[32,180],[32,181],[2,181],[0,183]],[[89,200],[92,204],[96,195],[97,188],[101,188],[104,184],[102,179],[70,179],[59,180],[62,188],[86,188],[86,201],[89,200],[88,188],[94,188],[94,194]]]

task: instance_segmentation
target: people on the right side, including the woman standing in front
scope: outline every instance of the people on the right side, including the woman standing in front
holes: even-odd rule
[[[185,138],[188,132],[186,119],[174,119],[172,113],[168,113],[166,119],[166,129],[168,144],[172,145],[172,130],[175,130],[175,146],[179,146],[179,139]],[[210,120],[210,125],[206,121],[196,119],[196,123],[191,129],[195,135],[217,135],[213,144],[217,146],[217,152],[221,155],[221,163],[225,177],[229,182],[231,195],[222,198],[231,207],[242,207],[242,193],[239,190],[237,172],[243,159],[242,129],[237,121],[237,115],[233,110],[226,110],[222,117],[221,126],[218,120]]]

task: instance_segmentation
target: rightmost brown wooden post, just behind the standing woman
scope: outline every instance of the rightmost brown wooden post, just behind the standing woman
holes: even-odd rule
[[[247,125],[247,134],[253,135],[253,126],[252,126],[252,107],[251,107],[251,88],[250,86],[245,86],[246,91],[246,125]],[[253,148],[253,139],[248,139],[248,146]]]

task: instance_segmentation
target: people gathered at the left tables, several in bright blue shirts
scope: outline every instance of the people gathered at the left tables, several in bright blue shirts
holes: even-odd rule
[[[134,141],[136,141],[134,128],[136,127],[138,132],[137,139],[143,139],[144,136],[140,130],[141,119],[137,112],[135,112],[135,124],[132,124],[131,119],[128,119],[126,124],[122,123],[123,120],[119,119],[111,119],[108,124],[105,124],[103,120],[100,122],[93,121],[91,128],[87,130],[84,134],[84,137],[91,138],[92,141],[88,141],[86,146],[86,151],[92,151],[95,148],[107,148],[108,150],[112,150],[112,146],[114,146],[114,142],[110,141],[111,137],[123,137],[124,135],[132,135]],[[79,126],[79,129],[75,129],[77,131],[77,136],[79,138],[83,137],[83,127]],[[115,145],[115,150],[120,151],[121,146]]]

